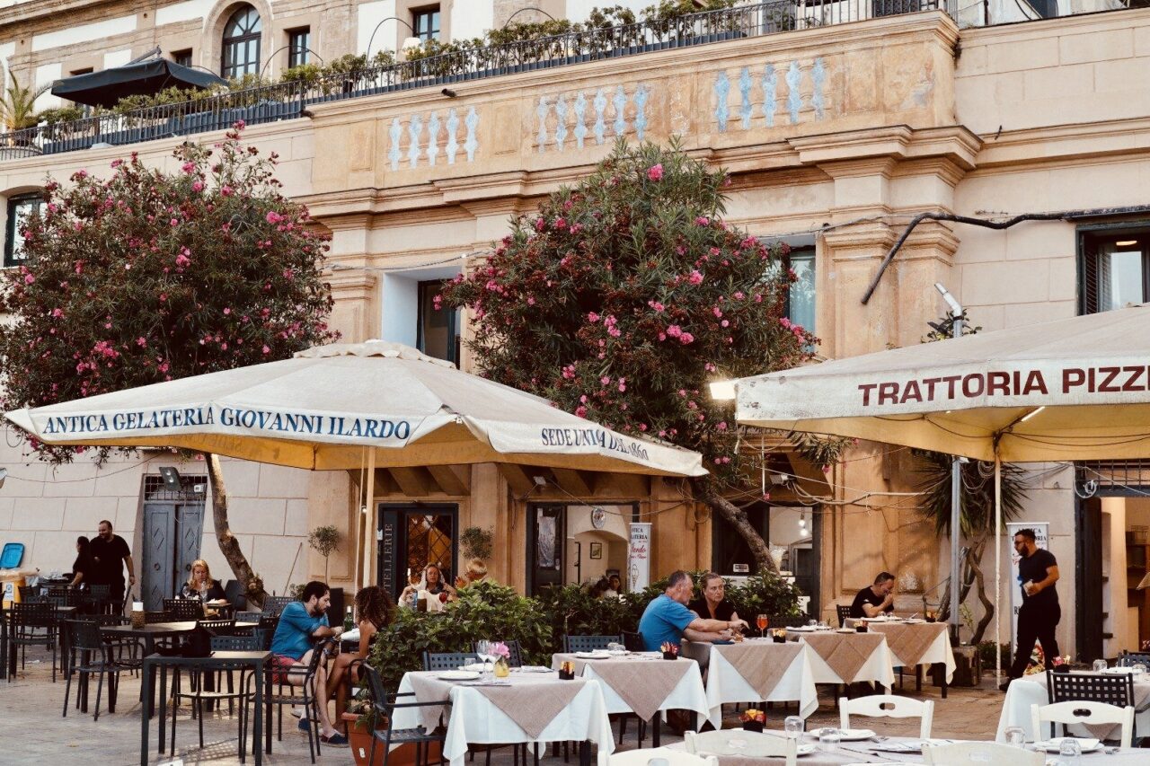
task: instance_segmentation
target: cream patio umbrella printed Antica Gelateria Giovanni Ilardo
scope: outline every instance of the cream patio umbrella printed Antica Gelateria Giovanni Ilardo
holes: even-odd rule
[[[174,446],[315,470],[366,468],[368,498],[376,466],[507,462],[706,473],[697,452],[618,434],[378,340],[319,346],[293,359],[6,416],[48,444]]]

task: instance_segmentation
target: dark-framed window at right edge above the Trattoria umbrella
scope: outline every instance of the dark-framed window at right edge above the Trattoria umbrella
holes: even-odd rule
[[[1106,229],[1080,236],[1081,313],[1150,300],[1150,229]]]

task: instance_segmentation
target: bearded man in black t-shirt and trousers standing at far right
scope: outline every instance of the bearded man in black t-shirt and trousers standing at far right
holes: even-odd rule
[[[1030,661],[1030,651],[1035,639],[1042,645],[1046,668],[1058,657],[1058,642],[1055,639],[1055,628],[1061,619],[1061,607],[1058,605],[1058,593],[1055,583],[1058,582],[1058,560],[1050,551],[1040,549],[1034,542],[1033,529],[1019,529],[1014,533],[1014,550],[1022,559],[1018,562],[1018,579],[1022,585],[1022,606],[1018,611],[1018,648],[1014,650],[1014,662],[1010,667],[1010,676],[998,687],[1006,687],[1014,679],[1021,679]]]

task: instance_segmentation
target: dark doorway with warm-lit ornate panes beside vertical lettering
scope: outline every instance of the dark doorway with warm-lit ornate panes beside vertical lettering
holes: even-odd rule
[[[377,535],[378,584],[393,597],[407,585],[408,577],[420,576],[435,564],[446,582],[455,581],[459,550],[459,506],[455,504],[381,503]]]

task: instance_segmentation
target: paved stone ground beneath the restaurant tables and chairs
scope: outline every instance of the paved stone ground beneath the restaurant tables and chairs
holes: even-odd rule
[[[76,688],[72,684],[72,699]],[[91,699],[94,700],[94,681]],[[59,675],[52,682],[52,656],[40,649],[28,652],[28,665],[9,682],[0,680],[0,765],[7,764],[138,764],[140,733],[140,682],[131,675],[124,675],[120,684],[120,699],[115,713],[107,713],[107,702],[101,704],[100,720],[93,721],[91,711],[79,713],[70,705],[68,717],[62,718],[64,699],[64,682]],[[808,727],[836,725],[838,712],[834,707],[830,688],[820,687],[819,711],[808,719]],[[896,694],[935,700],[934,734],[941,737],[987,740],[994,736],[998,725],[998,713],[1002,710],[1003,695],[984,679],[977,689],[951,689],[949,697],[942,699],[940,690],[923,685],[922,692],[915,692],[914,681],[906,679],[906,685]],[[737,727],[738,714],[734,706],[726,708],[724,726]],[[793,712],[790,707],[790,712]],[[768,711],[768,728],[782,728],[782,719],[788,714],[780,705]],[[914,736],[918,734],[917,722],[898,720],[877,721],[872,725],[884,734]],[[618,727],[616,727],[618,733]],[[158,730],[153,719],[150,743],[152,753],[150,764],[160,766],[182,764],[220,764],[231,766],[238,764],[236,751],[236,720],[229,718],[227,707],[222,712],[209,713],[205,719],[205,748],[200,750],[195,721],[191,719],[190,708],[182,710],[176,730],[176,754],[159,754],[155,749]],[[666,727],[662,731],[662,744],[680,741]],[[651,746],[650,737],[646,746]],[[634,721],[627,727],[627,738],[620,749],[636,748],[636,727]],[[296,729],[296,719],[284,713],[283,741],[275,741],[274,753],[266,758],[266,764],[309,764],[307,736]],[[493,766],[511,766],[511,750],[497,750],[492,754]],[[248,756],[248,764],[252,763]],[[347,748],[325,748],[317,764],[351,764],[351,751]],[[476,759],[482,764],[482,757]],[[540,763],[546,766],[560,766],[562,759],[545,757]],[[572,764],[577,760],[573,759]]]

